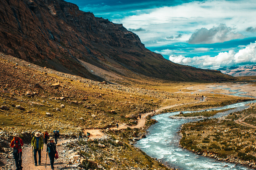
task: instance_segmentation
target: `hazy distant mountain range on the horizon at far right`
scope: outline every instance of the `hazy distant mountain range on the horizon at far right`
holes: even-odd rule
[[[224,74],[231,76],[256,76],[256,65],[234,66],[219,68]]]

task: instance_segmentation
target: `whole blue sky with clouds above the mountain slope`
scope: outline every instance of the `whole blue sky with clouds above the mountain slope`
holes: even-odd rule
[[[217,69],[256,63],[255,0],[68,0],[137,34],[173,62]]]

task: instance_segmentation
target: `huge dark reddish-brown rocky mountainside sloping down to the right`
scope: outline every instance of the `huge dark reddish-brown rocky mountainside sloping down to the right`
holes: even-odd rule
[[[172,63],[146,49],[122,24],[63,0],[2,0],[0,23],[1,52],[93,80],[231,78],[219,71]]]

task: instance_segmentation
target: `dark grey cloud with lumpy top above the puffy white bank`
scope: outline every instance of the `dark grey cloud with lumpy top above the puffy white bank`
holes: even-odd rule
[[[211,44],[218,42],[226,42],[242,38],[240,33],[234,33],[231,27],[225,24],[220,24],[218,27],[213,27],[210,30],[201,28],[196,30],[188,40],[190,44]]]

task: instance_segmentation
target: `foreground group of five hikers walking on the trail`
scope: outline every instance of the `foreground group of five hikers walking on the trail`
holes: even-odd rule
[[[58,141],[58,137],[60,136],[60,133],[58,130],[53,131],[53,137],[49,136],[48,131],[46,130],[44,132],[44,140],[39,132],[36,132],[35,135],[32,138],[31,145],[32,145],[32,155],[33,155],[33,163],[35,163],[35,166],[41,165],[41,151],[44,149],[44,144],[47,146],[46,149],[46,161],[47,161],[47,155],[50,158],[50,164],[52,170],[54,169],[54,158],[58,159],[58,152],[56,150],[56,144]],[[49,139],[49,143],[48,143]],[[53,141],[55,140],[55,142]],[[16,170],[22,170],[22,146],[23,142],[22,139],[19,137],[19,134],[14,134],[13,139],[11,141],[10,146],[13,148],[13,156],[15,160]],[[37,153],[38,153],[38,161],[37,161]],[[34,162],[35,161],[35,162]],[[46,167],[46,163],[45,163]]]

